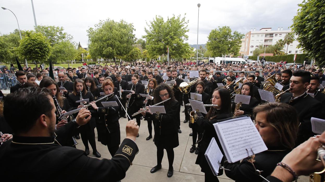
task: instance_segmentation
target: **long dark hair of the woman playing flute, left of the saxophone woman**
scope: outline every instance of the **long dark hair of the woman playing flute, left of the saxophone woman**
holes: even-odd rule
[[[214,91],[212,93],[214,93],[215,91],[219,92],[220,95],[220,99],[221,99],[221,109],[219,110],[219,113],[222,114],[226,114],[231,112],[231,99],[230,99],[230,92],[228,91],[228,89],[224,88],[224,87],[218,87],[216,89],[214,89]],[[214,113],[214,108],[210,108],[210,111],[208,112],[208,114],[205,116],[205,119],[210,119],[212,117],[215,118],[216,116],[213,116]]]

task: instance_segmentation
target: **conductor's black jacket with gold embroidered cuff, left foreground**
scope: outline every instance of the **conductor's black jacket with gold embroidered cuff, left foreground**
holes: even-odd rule
[[[14,135],[1,146],[1,164],[7,166],[1,180],[118,181],[125,177],[138,151],[134,141],[124,139],[111,160],[99,160],[86,156],[83,150],[55,144],[54,137]]]

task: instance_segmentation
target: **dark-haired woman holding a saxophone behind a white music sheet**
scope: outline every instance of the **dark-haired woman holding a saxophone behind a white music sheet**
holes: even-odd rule
[[[251,82],[246,82],[241,86],[240,93],[242,95],[249,95],[251,96],[251,100],[249,104],[241,104],[239,109],[236,111],[235,116],[241,115],[251,115],[253,117],[253,108],[258,105],[258,101],[254,98],[254,91],[253,91],[253,84]],[[231,107],[231,111],[235,111],[236,105],[239,103],[234,103]]]

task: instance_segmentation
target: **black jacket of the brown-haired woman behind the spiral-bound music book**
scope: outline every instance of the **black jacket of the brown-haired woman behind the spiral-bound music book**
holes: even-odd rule
[[[263,151],[261,153],[255,154],[255,162],[254,166],[256,169],[263,171],[261,175],[263,177],[267,177],[271,175],[277,163],[280,162],[285,155],[287,155],[291,150],[284,148],[270,148],[268,150]],[[226,158],[224,158],[227,160]],[[230,171],[225,170],[226,175],[235,180],[239,181],[254,181],[259,182],[263,181],[263,178],[255,174],[254,167],[252,163],[248,162],[247,159],[243,161],[237,161],[234,163],[228,163],[228,161],[224,162],[224,167],[226,169],[230,169]]]

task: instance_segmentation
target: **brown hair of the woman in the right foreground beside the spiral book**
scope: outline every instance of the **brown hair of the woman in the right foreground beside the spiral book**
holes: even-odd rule
[[[273,102],[258,105],[253,109],[254,116],[259,112],[265,112],[267,123],[279,134],[280,144],[292,149],[295,146],[299,126],[296,110],[291,105]]]

